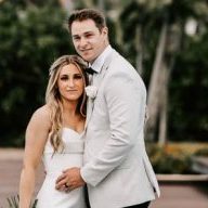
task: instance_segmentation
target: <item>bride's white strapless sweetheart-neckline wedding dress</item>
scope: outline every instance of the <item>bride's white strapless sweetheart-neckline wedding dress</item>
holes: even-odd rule
[[[47,171],[44,182],[37,195],[37,208],[86,208],[83,187],[72,192],[55,190],[55,181],[62,171],[70,167],[82,166],[83,133],[63,128],[64,151],[53,155],[50,141],[43,152],[43,165]]]

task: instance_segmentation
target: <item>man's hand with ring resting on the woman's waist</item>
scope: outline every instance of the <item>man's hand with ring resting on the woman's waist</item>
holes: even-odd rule
[[[63,174],[57,178],[55,188],[67,192],[83,186],[84,184],[86,182],[80,174],[80,168],[69,168],[64,170]]]

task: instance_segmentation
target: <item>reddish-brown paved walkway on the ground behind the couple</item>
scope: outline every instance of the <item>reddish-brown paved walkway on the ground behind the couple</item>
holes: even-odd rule
[[[8,208],[5,198],[18,193],[22,158],[23,151],[0,150],[0,208]],[[36,193],[43,176],[40,167]],[[151,208],[208,208],[208,193],[202,192],[200,184],[160,182],[161,197],[153,202]]]

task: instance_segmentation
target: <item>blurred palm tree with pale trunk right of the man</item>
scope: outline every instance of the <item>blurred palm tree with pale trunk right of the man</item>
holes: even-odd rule
[[[145,58],[155,54],[148,83],[150,120],[146,136],[158,140],[161,145],[168,138],[168,84],[181,42],[185,38],[184,25],[191,16],[205,21],[206,8],[206,0],[136,0],[131,1],[121,13],[125,41],[129,40],[129,35],[132,40],[127,50],[138,53],[138,65],[142,67]],[[136,44],[133,44],[133,39],[138,40]]]

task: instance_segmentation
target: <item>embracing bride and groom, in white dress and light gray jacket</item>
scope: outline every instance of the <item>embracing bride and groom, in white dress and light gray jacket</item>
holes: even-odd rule
[[[26,130],[20,208],[29,208],[41,158],[38,208],[146,208],[159,187],[144,144],[145,86],[110,47],[99,11],[75,11],[68,27],[82,58],[50,68],[46,105]]]

